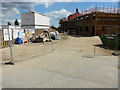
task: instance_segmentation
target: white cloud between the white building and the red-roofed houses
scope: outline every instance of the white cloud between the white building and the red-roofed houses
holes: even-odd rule
[[[54,25],[54,26],[59,26],[59,24],[58,24],[59,19],[67,17],[70,14],[71,14],[71,12],[69,12],[65,9],[45,13],[46,16],[51,18],[51,25]]]

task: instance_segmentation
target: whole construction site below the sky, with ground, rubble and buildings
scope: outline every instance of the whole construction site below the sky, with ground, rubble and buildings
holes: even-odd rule
[[[119,8],[76,8],[59,25],[29,10],[1,26],[2,87],[118,88]]]

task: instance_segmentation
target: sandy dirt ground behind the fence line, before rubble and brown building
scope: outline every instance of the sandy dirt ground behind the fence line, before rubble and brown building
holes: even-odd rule
[[[29,60],[30,58],[53,53],[54,51],[76,51],[80,56],[112,56],[113,50],[105,49],[98,36],[95,37],[80,37],[69,36],[66,34],[60,35],[60,40],[45,43],[25,43],[22,45],[14,45],[13,58],[14,61]],[[10,60],[10,48],[2,49],[2,61]]]

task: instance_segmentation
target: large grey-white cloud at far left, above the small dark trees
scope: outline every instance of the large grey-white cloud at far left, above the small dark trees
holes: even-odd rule
[[[2,12],[2,15],[0,15],[0,21],[2,21],[2,25],[6,25],[7,22],[10,20],[10,22],[13,24],[13,21],[15,19],[20,19],[20,11],[17,9],[34,9],[35,3],[33,2],[2,2],[2,8],[0,12]],[[1,20],[2,19],[2,20]]]

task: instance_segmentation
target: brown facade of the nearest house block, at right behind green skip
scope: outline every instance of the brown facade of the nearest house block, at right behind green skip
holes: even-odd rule
[[[76,34],[95,36],[102,34],[116,34],[120,30],[118,14],[93,12],[81,15],[76,19]]]

